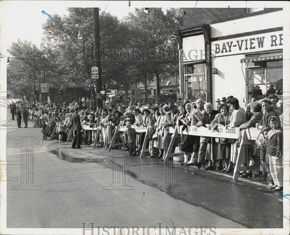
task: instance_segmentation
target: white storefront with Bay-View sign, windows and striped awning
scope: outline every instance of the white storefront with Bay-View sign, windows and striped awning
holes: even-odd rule
[[[233,95],[242,107],[252,97],[259,100],[266,93],[281,98],[281,13],[282,9],[262,9],[177,30],[180,91],[184,97],[214,102]]]

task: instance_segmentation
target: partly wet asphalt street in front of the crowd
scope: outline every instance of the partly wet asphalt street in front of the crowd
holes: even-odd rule
[[[30,122],[28,128],[15,125],[7,131],[7,227],[282,227],[283,194],[262,184],[117,150],[71,149],[66,142],[39,140],[41,128]],[[16,138],[22,147],[13,144]],[[31,144],[34,139],[39,144]],[[27,160],[28,149],[34,149],[32,168],[21,168],[21,152]]]

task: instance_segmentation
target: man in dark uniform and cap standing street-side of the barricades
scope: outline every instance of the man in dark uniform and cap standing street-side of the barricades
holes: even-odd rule
[[[81,140],[83,128],[81,127],[81,119],[79,117],[79,106],[75,106],[75,112],[71,117],[70,128],[73,127],[73,143],[72,149],[81,149]],[[77,147],[75,147],[77,145]]]

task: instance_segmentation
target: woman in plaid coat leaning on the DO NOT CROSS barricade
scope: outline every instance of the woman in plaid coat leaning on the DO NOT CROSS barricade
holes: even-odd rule
[[[230,124],[229,107],[226,104],[220,106],[220,113],[215,115],[215,119],[211,122],[211,129],[214,130],[217,127],[224,127]],[[227,138],[215,138],[218,143],[218,159],[224,159],[226,167],[222,170],[224,172],[231,172],[232,169],[228,169],[229,160],[231,158],[231,142],[232,139]]]

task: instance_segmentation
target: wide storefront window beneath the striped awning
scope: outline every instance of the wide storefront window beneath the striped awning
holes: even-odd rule
[[[248,100],[255,97],[263,99],[264,95],[283,94],[282,61],[249,62],[247,65]],[[279,97],[280,96],[280,97]]]

